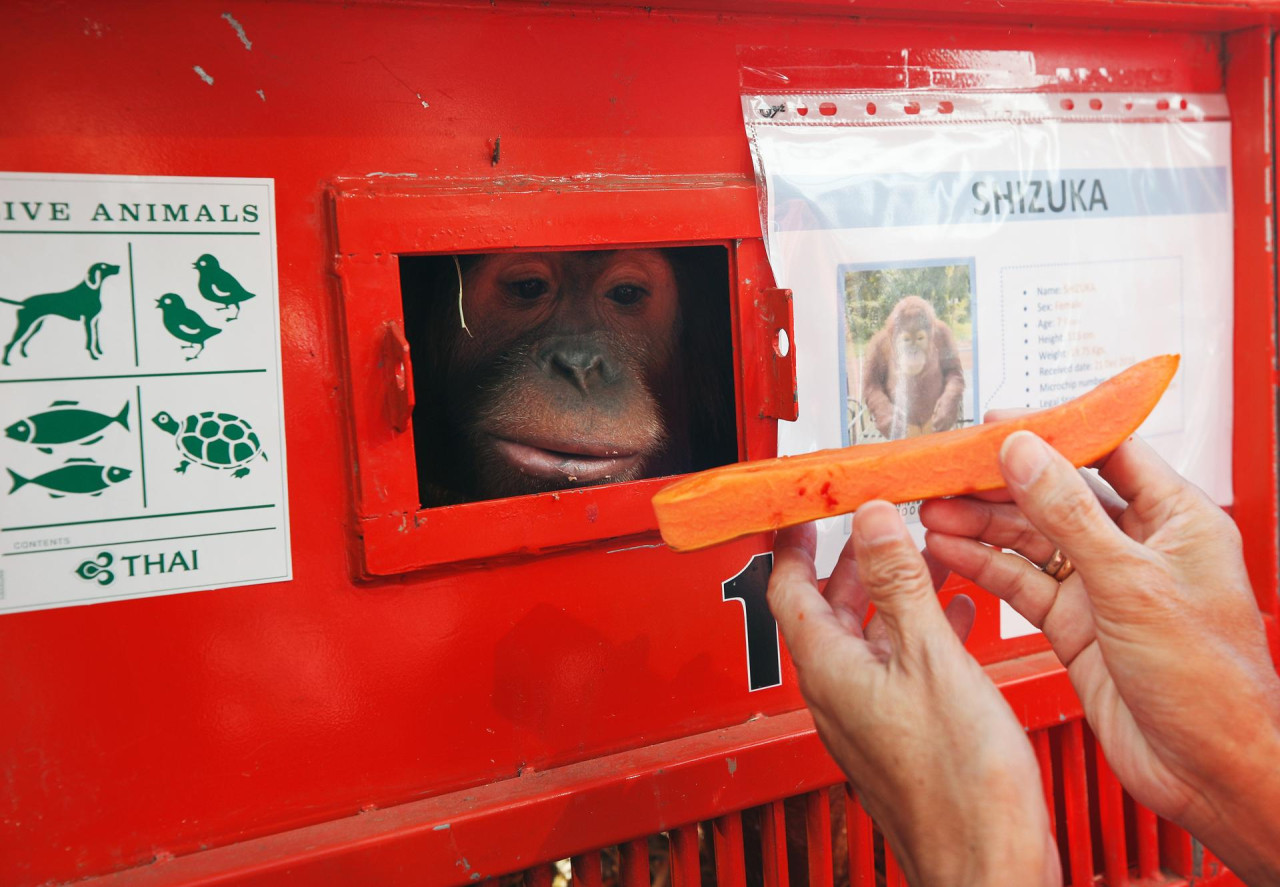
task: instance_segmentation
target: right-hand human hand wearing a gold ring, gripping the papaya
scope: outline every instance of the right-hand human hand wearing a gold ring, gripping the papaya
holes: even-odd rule
[[[1114,491],[1028,431],[1001,468],[1012,502],[924,504],[928,550],[1044,631],[1135,800],[1280,879],[1280,680],[1235,523],[1139,440],[1102,465]],[[1055,549],[1061,584],[1036,567]]]

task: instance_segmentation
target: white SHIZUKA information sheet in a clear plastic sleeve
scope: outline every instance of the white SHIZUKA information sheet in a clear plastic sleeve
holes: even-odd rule
[[[1225,118],[1221,97],[1201,100]],[[786,108],[744,99],[771,262],[795,294],[800,419],[780,424],[781,454],[1050,407],[1139,360],[1180,353],[1139,434],[1231,502],[1225,119],[767,116]],[[916,507],[901,509],[923,536]],[[822,575],[847,527],[847,517],[823,522]]]

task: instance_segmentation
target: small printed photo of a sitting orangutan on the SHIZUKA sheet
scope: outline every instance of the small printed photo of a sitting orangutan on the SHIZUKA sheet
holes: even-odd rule
[[[846,270],[849,443],[973,421],[969,265]]]

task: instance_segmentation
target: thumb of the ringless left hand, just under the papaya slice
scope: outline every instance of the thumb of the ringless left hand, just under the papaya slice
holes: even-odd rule
[[[887,502],[864,504],[854,515],[852,539],[858,576],[890,644],[910,650],[918,637],[941,632],[946,619],[929,570],[897,509]]]

